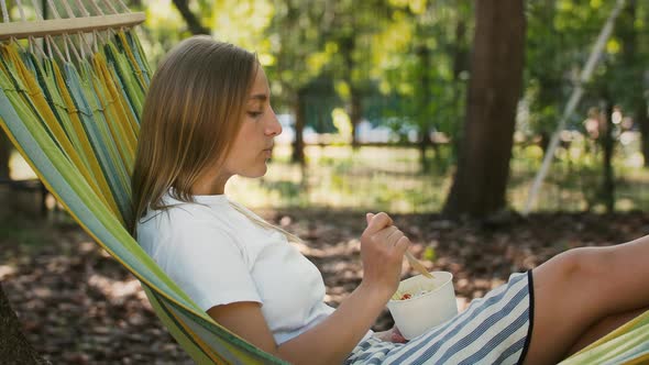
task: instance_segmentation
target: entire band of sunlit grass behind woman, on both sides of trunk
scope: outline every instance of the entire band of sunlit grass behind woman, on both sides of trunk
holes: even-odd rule
[[[649,172],[641,167],[638,141],[618,145],[614,170],[616,210],[644,209],[649,203]],[[290,164],[290,146],[277,145],[267,174],[261,179],[234,177],[227,192],[251,208],[336,208],[385,210],[400,213],[439,211],[452,182],[448,147],[427,158],[422,173],[417,147],[307,146],[307,166]],[[535,211],[603,211],[601,154],[592,146],[573,143],[559,150],[538,195]],[[516,146],[510,162],[508,203],[522,210],[542,161],[538,146]],[[439,163],[441,162],[441,164]],[[33,173],[14,154],[13,178]]]

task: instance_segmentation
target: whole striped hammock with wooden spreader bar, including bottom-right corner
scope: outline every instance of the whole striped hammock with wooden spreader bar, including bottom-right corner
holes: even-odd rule
[[[156,314],[198,364],[282,364],[216,323],[138,245],[124,222],[144,95],[152,73],[132,26],[144,21],[97,0],[76,14],[0,24],[0,125],[52,195],[142,284]],[[120,9],[118,11],[117,9]],[[40,45],[43,44],[43,45]],[[649,360],[649,313],[565,364]]]

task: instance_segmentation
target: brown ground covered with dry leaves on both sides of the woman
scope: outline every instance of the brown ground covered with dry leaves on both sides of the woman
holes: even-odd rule
[[[299,250],[322,272],[326,300],[338,306],[362,277],[360,212],[266,211],[304,239]],[[622,243],[649,232],[649,214],[547,213],[527,219],[451,222],[396,215],[416,256],[454,275],[460,309],[571,247]],[[156,319],[140,284],[69,220],[20,214],[0,223],[0,281],[24,332],[54,364],[191,364]],[[413,275],[404,262],[405,276]],[[387,329],[387,311],[375,330]]]

